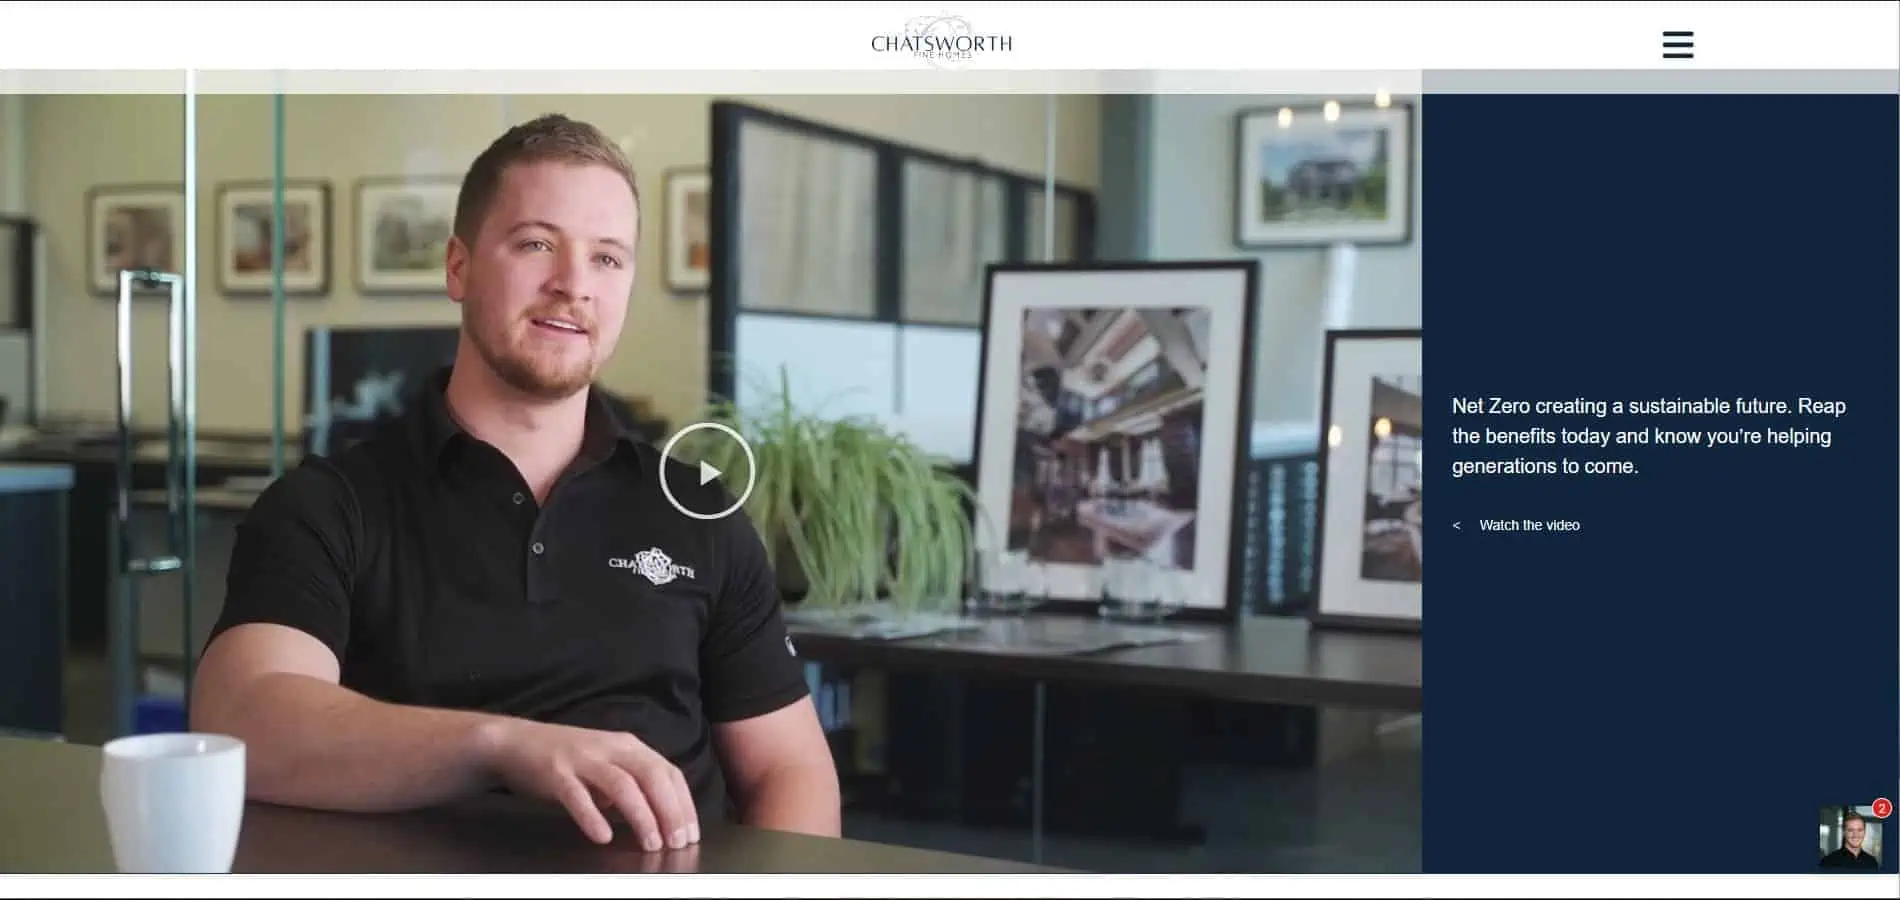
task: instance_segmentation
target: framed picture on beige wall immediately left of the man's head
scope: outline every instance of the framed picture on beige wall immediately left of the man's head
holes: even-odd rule
[[[357,289],[441,294],[460,178],[363,178],[355,184]]]

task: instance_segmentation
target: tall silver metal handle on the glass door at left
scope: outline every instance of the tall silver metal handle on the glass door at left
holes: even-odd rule
[[[162,556],[133,556],[131,547],[131,488],[133,488],[133,456],[137,439],[131,429],[131,306],[133,292],[137,289],[165,289],[169,292],[167,304],[167,359],[165,359],[165,382],[167,382],[167,404],[165,404],[165,553]],[[184,478],[186,463],[194,456],[190,446],[192,427],[188,412],[188,391],[186,378],[190,376],[186,365],[186,328],[188,309],[184,302],[184,275],[175,272],[154,272],[154,270],[120,270],[120,291],[118,291],[118,503],[114,507],[114,518],[118,522],[120,534],[120,573],[124,575],[156,575],[162,572],[177,572],[184,568],[184,547],[188,535],[184,534],[186,522],[186,497],[184,497]]]

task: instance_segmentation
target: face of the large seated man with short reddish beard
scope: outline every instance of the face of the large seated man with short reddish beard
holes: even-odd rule
[[[483,361],[530,397],[570,397],[614,355],[640,211],[604,165],[521,163],[473,247],[450,241],[448,296]]]

